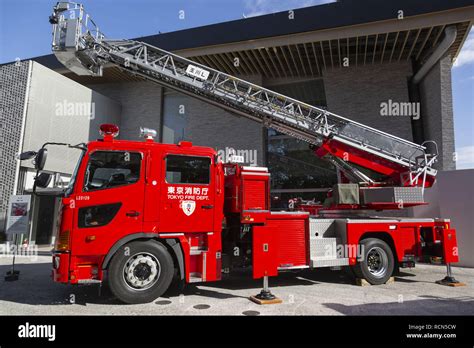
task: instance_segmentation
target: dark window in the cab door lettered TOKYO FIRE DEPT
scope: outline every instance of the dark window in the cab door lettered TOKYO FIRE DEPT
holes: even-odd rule
[[[168,155],[166,182],[169,184],[209,184],[211,159]]]

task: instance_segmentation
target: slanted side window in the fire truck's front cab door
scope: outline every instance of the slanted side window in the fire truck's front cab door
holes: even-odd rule
[[[140,178],[142,156],[137,152],[96,151],[90,155],[84,189],[102,190],[133,184]]]

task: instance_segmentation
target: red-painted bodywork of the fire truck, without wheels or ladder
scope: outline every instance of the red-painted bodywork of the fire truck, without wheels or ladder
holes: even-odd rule
[[[107,189],[87,188],[89,162],[102,152],[134,156],[139,163],[135,181]],[[168,161],[179,163],[184,157],[208,163],[208,180],[175,181],[177,172],[169,170]],[[117,141],[109,136],[91,142],[74,189],[62,203],[53,255],[56,282],[101,281],[117,248],[135,236],[177,242],[187,282],[220,280],[223,244],[229,242],[223,232],[231,228],[237,235],[251,234],[246,252],[251,253],[254,278],[311,266],[310,214],[271,211],[268,170],[219,163],[214,149],[189,142]],[[94,220],[101,209],[109,221]],[[232,221],[233,227],[227,226]],[[421,258],[423,238],[428,238],[435,247],[442,245],[445,262],[458,261],[456,233],[448,220],[346,219],[344,224],[341,237],[347,246],[357,247],[363,238],[376,235],[404,262]],[[350,265],[356,262],[357,255],[349,256]]]

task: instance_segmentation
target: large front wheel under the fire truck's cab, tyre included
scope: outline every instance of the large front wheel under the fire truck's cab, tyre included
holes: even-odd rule
[[[158,241],[135,241],[122,246],[110,262],[110,290],[125,303],[147,303],[160,297],[171,284],[174,264]]]

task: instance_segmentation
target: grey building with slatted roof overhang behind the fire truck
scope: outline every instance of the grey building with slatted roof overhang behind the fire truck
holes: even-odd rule
[[[399,137],[418,143],[434,140],[438,168],[453,170],[451,67],[473,18],[469,0],[343,0],[138,40]],[[92,99],[84,100],[94,101],[98,117],[81,126],[90,132],[75,134],[77,142],[96,136],[97,120],[114,120],[122,139],[138,139],[139,128],[149,127],[158,130],[162,142],[186,139],[222,153],[240,151],[250,164],[270,168],[272,195],[281,201],[294,196],[321,199],[336,182],[334,168],[316,158],[307,144],[253,121],[114,66],[97,78],[71,73],[53,55],[33,60],[70,81],[70,88],[91,91]],[[24,81],[27,73],[10,74],[17,77],[6,85]],[[24,98],[23,89],[16,93]],[[12,137],[5,138],[12,145],[9,152],[2,152],[9,164],[2,167],[0,214],[9,194],[28,186],[12,156],[39,139],[56,140],[58,134],[28,135],[28,127],[21,130],[20,109],[12,111],[12,128],[0,130]],[[64,168],[60,172],[70,173]]]

